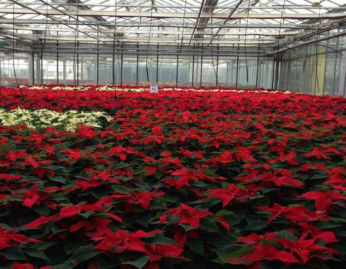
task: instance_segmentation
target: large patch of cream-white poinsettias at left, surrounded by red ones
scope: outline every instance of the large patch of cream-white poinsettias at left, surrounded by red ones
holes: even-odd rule
[[[46,109],[0,109],[1,125],[27,125],[31,129],[61,126],[66,131],[74,131],[81,124],[93,127],[101,127],[99,125],[101,123],[100,117],[103,117],[108,122],[112,119],[112,117],[107,113],[98,111],[78,112],[75,110],[70,110],[68,112],[58,113]]]

